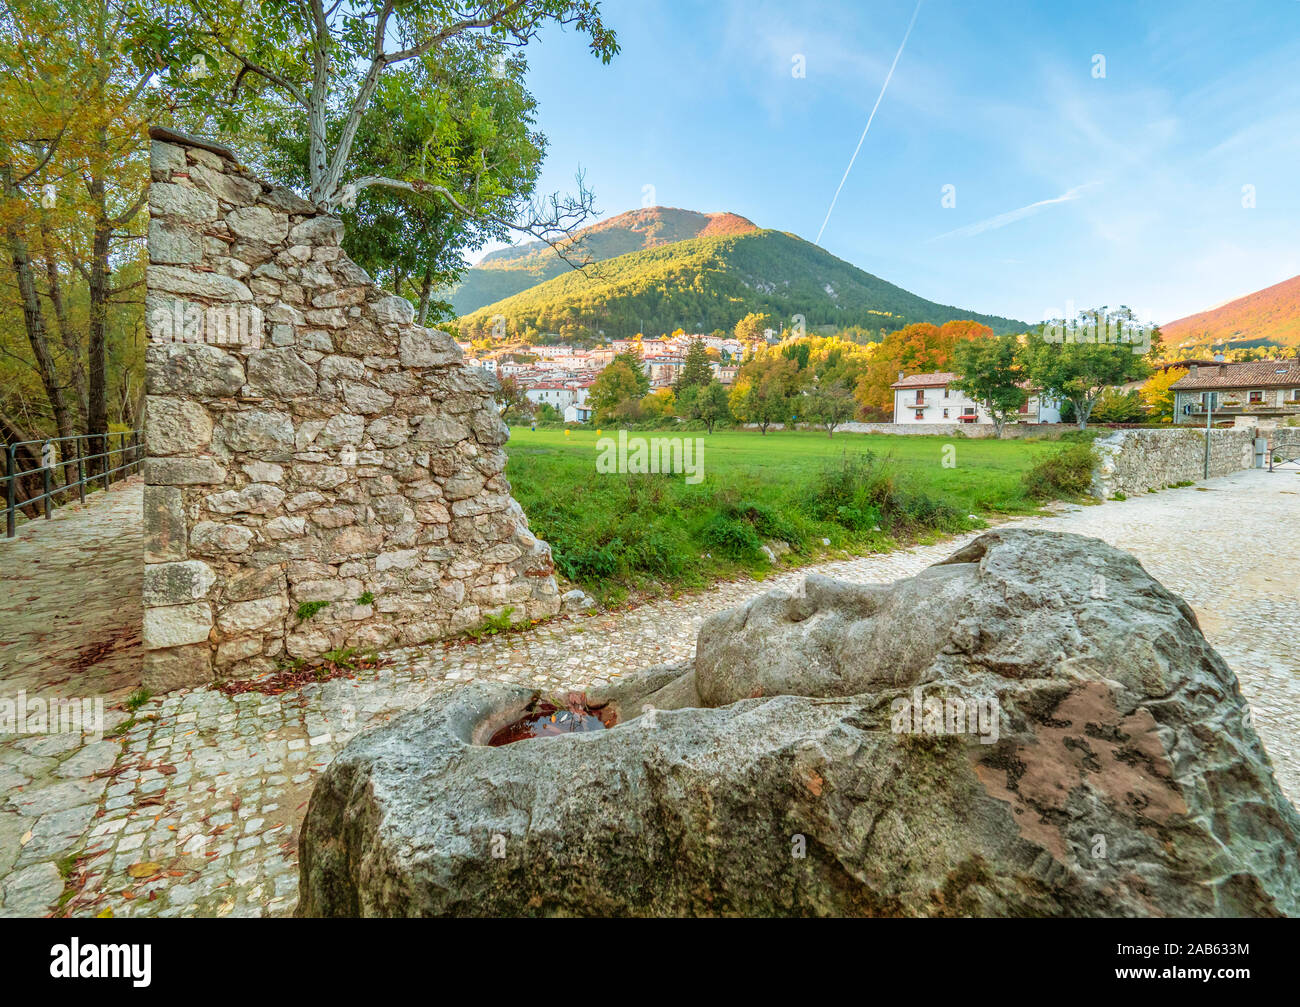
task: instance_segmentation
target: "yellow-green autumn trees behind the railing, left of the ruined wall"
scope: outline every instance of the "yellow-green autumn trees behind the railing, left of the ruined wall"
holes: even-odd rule
[[[152,69],[124,56],[129,26],[130,9],[109,0],[0,0],[5,440],[139,424],[146,123],[159,96]],[[40,491],[26,482],[20,500]]]

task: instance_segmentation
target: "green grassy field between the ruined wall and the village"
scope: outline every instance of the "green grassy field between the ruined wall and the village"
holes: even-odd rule
[[[560,573],[618,603],[629,590],[762,577],[774,568],[760,547],[774,539],[792,547],[780,560],[790,565],[965,531],[983,526],[982,516],[1036,509],[1024,474],[1062,450],[1039,440],[816,431],[689,435],[705,444],[697,485],[681,474],[598,473],[595,430],[511,430],[507,476]]]

